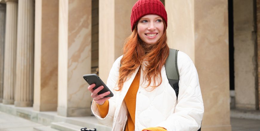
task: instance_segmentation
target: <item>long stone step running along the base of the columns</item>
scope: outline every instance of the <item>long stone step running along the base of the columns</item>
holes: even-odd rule
[[[48,126],[50,126],[52,122],[63,121],[69,124],[77,125],[80,128],[87,127],[92,129],[97,128],[98,131],[111,131],[110,127],[101,124],[95,116],[64,117],[57,115],[56,111],[39,112],[34,111],[33,107],[15,107],[14,105],[5,105],[2,103],[0,103],[0,111],[12,114],[14,116],[27,118],[31,121],[38,122],[40,124]]]

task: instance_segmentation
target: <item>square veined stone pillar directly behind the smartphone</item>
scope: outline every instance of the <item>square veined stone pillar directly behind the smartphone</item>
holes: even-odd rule
[[[91,0],[59,0],[58,47],[58,115],[90,115]]]

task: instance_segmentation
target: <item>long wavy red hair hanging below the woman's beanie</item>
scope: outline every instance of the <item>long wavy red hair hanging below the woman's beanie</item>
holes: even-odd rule
[[[152,80],[154,80],[154,86],[152,86],[154,88],[162,83],[161,68],[169,55],[166,24],[164,21],[163,26],[163,35],[155,44],[143,43],[137,33],[137,24],[134,26],[132,34],[124,43],[123,57],[120,61],[118,89],[116,91],[120,91],[123,88],[124,82],[134,73],[138,66],[142,66],[143,61],[147,61],[146,65],[143,65],[145,66],[143,71],[144,80],[149,81],[146,87],[152,83]],[[160,80],[158,85],[156,85],[156,80]]]

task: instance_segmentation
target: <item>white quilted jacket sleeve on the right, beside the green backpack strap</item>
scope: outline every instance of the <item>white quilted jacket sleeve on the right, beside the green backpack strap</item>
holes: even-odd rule
[[[198,73],[185,53],[179,51],[177,60],[180,74],[178,103],[174,113],[157,126],[168,131],[197,131],[204,113]]]

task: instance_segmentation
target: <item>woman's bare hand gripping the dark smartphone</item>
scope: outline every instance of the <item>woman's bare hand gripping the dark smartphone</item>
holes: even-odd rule
[[[95,84],[89,85],[89,86],[88,86],[88,91],[91,92],[91,97],[93,98],[93,100],[94,100],[98,105],[103,105],[106,100],[108,100],[108,99],[111,98],[111,97],[105,97],[105,96],[109,95],[110,92],[107,91],[107,92],[105,92],[105,93],[103,93],[103,94],[98,95],[97,93],[98,93],[99,91],[101,91],[101,90],[104,88],[104,86],[101,85],[100,87],[98,87],[97,89],[94,90],[93,88],[94,88],[95,86],[96,86]]]

